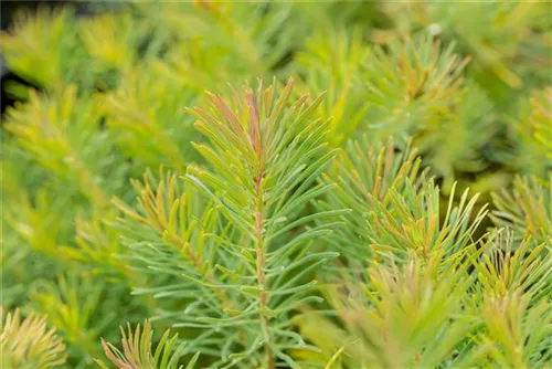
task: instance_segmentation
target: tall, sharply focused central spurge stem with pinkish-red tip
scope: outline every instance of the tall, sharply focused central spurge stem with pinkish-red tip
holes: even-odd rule
[[[241,345],[247,355],[234,357],[268,368],[275,368],[277,359],[297,367],[286,350],[306,344],[289,329],[288,315],[299,301],[319,299],[312,272],[338,256],[312,245],[337,223],[312,222],[344,212],[301,217],[311,200],[331,188],[317,179],[336,152],[327,148],[327,123],[312,117],[321,97],[309,103],[304,96],[289,106],[290,92],[291,81],[279,96],[274,85],[263,91],[259,83],[255,92],[246,87],[244,97],[236,96],[234,108],[211,96],[214,109],[194,110],[197,127],[211,145],[195,147],[214,172],[190,168],[187,175],[230,228],[220,252],[230,259],[223,271],[232,282],[221,287],[236,306],[225,313],[231,316],[211,324],[243,329]]]

